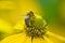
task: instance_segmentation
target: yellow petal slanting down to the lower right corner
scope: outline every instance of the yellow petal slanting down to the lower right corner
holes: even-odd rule
[[[47,34],[49,35],[49,39],[51,39],[55,43],[65,42],[65,38],[60,34],[53,33],[51,31],[48,31]]]

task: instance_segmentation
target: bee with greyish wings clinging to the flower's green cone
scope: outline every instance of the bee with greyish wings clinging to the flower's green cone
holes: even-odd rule
[[[29,13],[27,13],[26,17],[25,17],[25,24],[27,27],[30,27],[31,26],[31,22],[34,22],[34,12],[30,11]]]

